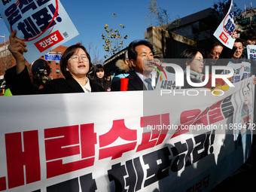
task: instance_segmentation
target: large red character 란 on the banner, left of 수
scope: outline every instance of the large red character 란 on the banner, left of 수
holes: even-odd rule
[[[94,124],[64,126],[44,130],[47,178],[93,166],[96,133]],[[81,160],[63,163],[64,157],[81,154]]]

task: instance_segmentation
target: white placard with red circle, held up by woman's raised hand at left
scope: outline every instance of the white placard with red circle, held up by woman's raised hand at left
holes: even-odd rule
[[[26,42],[23,56],[29,63],[78,35],[57,0],[1,1],[0,14],[9,32],[17,29],[16,37]]]

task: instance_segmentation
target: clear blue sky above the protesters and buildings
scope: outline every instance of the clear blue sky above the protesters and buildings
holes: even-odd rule
[[[80,35],[66,42],[65,46],[70,46],[78,42],[82,42],[85,47],[88,44],[93,44],[93,48],[97,47],[100,58],[106,54],[102,44],[102,33],[105,33],[104,26],[108,23],[109,28],[114,28],[114,16],[117,25],[123,24],[121,35],[128,35],[128,38],[123,41],[126,47],[131,41],[144,38],[144,32],[147,30],[145,25],[145,17],[148,14],[148,0],[93,0],[93,1],[60,1],[66,12],[69,14],[75,27]],[[175,20],[176,17],[186,17],[206,8],[212,8],[216,0],[157,0],[160,8],[167,10],[169,21]],[[238,8],[244,11],[245,4],[250,5],[251,0],[234,0]],[[255,7],[255,5],[253,5]],[[117,28],[118,29],[118,28]],[[10,33],[5,26],[3,20],[0,20],[0,35],[5,34],[8,38]],[[3,43],[3,38],[0,38],[0,43]],[[90,53],[93,54],[92,52]]]

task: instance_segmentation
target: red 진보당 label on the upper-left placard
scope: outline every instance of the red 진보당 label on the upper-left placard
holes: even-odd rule
[[[35,42],[35,47],[37,47],[40,52],[43,52],[62,40],[64,40],[64,38],[59,31],[56,31],[42,38],[40,41]]]

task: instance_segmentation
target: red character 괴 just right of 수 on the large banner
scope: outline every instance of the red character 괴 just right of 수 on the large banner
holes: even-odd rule
[[[138,146],[136,152],[145,150],[147,148],[153,148],[155,145],[160,145],[166,138],[168,133],[167,126],[169,125],[169,114],[157,114],[148,117],[141,118],[141,127],[151,126],[148,133],[142,134],[142,143]],[[160,126],[161,129],[156,129]]]

